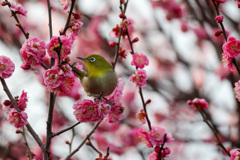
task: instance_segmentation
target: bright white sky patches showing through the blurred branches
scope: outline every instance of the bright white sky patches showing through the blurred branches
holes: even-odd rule
[[[106,5],[111,5],[115,7],[116,11],[119,6],[118,0],[79,0],[79,5],[83,12],[89,13],[89,14],[104,14],[104,10]],[[59,5],[56,3],[56,5]],[[37,6],[37,9],[34,8]],[[234,17],[238,15],[239,18],[239,10],[236,9],[237,4],[235,3],[229,3],[226,5],[226,7],[231,8],[230,14],[232,14]],[[32,21],[36,22],[37,24],[43,25],[46,24],[46,18],[47,18],[47,11],[46,8],[44,8],[41,5],[29,4],[29,6],[26,6],[28,9],[28,16],[27,18],[31,18]],[[152,28],[154,29],[155,24],[153,23],[153,17],[152,17],[152,8],[149,5],[148,0],[130,0],[128,9],[127,9],[127,16],[132,18],[135,21],[135,28],[136,30],[140,29],[148,29]],[[182,56],[186,59],[191,59],[192,61],[198,61],[198,56],[202,54],[203,51],[199,50],[196,46],[196,38],[194,37],[193,33],[181,33],[179,27],[179,23],[176,21],[168,22],[165,20],[165,15],[162,11],[157,11],[159,20],[162,22],[164,30],[171,36],[174,37],[174,42],[176,43],[177,48],[181,52]],[[238,14],[237,14],[238,13]],[[110,23],[103,23],[102,27],[99,28],[102,31],[102,34],[111,40],[109,37],[109,32],[113,27],[115,27],[115,24],[120,22],[120,19],[118,18],[119,12],[115,12],[114,14],[109,15],[109,19],[111,20]],[[55,15],[53,15],[54,17]],[[53,18],[54,21],[54,18]],[[144,21],[147,21],[147,24],[143,24]],[[54,21],[55,22],[55,21]],[[65,24],[65,19],[58,20],[56,23],[53,23],[54,26],[54,35],[58,34],[58,30],[62,28]],[[57,25],[56,25],[57,24]],[[113,26],[111,26],[113,24]],[[44,32],[44,31],[43,31]],[[45,31],[46,32],[46,31]],[[155,34],[157,33],[157,34]],[[34,33],[31,33],[34,35]],[[48,34],[46,32],[46,34]],[[159,32],[154,32],[154,30],[149,30],[149,40],[152,43],[152,45],[158,45],[158,41],[161,41],[162,36]],[[239,38],[239,37],[237,37]],[[48,40],[45,41],[48,43]],[[155,43],[155,44],[154,44]],[[140,41],[135,45],[135,50],[138,52],[145,53],[144,49],[144,42]],[[45,126],[46,126],[46,110],[45,107],[42,107],[44,104],[45,97],[45,90],[41,84],[37,81],[36,77],[31,72],[25,72],[20,68],[20,65],[22,64],[20,57],[16,56],[19,51],[16,50],[12,46],[5,46],[0,42],[0,55],[6,55],[11,58],[11,60],[15,63],[16,69],[11,78],[6,79],[6,82],[12,92],[13,95],[20,95],[22,90],[25,90],[28,92],[28,108],[26,112],[29,116],[29,122],[33,126],[33,128],[36,130],[38,134],[45,134]],[[148,54],[148,53],[145,53]],[[204,55],[207,57],[207,60],[205,63],[208,63],[207,65],[209,70],[214,70],[215,67],[218,65],[216,53],[211,45],[206,45],[206,48],[204,48]],[[174,59],[174,56],[170,56],[170,58]],[[127,61],[131,61],[131,59],[127,59]],[[154,76],[156,70],[154,70],[155,67],[155,61],[154,59],[150,58],[150,65],[146,68],[147,74],[149,77]],[[184,68],[181,68],[179,66],[177,70],[175,71],[175,81],[176,84],[179,85],[179,87],[182,90],[191,90],[192,84],[190,84],[189,80],[189,73],[184,73]],[[203,93],[209,93],[209,97],[212,99],[212,102],[215,106],[219,107],[226,107],[233,111],[234,110],[234,100],[233,100],[233,92],[230,84],[227,81],[221,81],[219,78],[214,76],[212,73],[207,73],[206,76],[207,84],[205,85],[204,89],[202,90]],[[125,80],[126,84],[129,84]],[[159,96],[154,95],[153,93],[150,93],[148,91],[144,91],[145,99],[151,98],[152,103],[149,105],[150,112],[153,112],[154,110],[161,109],[164,113],[167,114],[167,104],[163,99],[159,99]],[[0,86],[0,99],[4,100],[7,99],[6,95],[2,91],[2,86]],[[60,98],[60,103],[66,105],[66,106],[72,106],[74,101],[68,99],[68,98]],[[159,102],[161,105],[159,105]],[[1,102],[2,103],[2,102]],[[138,102],[139,103],[139,102]],[[141,104],[139,103],[141,106]],[[158,106],[158,108],[156,108]],[[159,108],[159,106],[161,108]],[[69,117],[72,117],[72,121],[76,122],[74,117],[72,116],[72,108],[66,109],[66,114],[69,115]],[[214,120],[218,122],[219,124],[227,124],[229,115],[227,115],[224,112],[215,111],[215,115],[213,115]],[[221,117],[221,118],[220,118]],[[201,120],[200,117],[199,120]],[[8,131],[5,132],[4,130],[0,129],[0,133],[2,135],[0,136],[0,143],[6,143],[7,141],[5,138],[9,138],[9,140],[17,139],[15,134],[15,128],[4,124],[6,127],[8,127]],[[164,126],[164,124],[163,124]],[[166,130],[168,130],[168,126],[166,127]],[[3,127],[5,128],[5,127]],[[81,127],[82,129],[82,127]],[[90,129],[88,126],[86,126],[86,129]],[[226,129],[223,127],[223,130]],[[77,129],[79,130],[79,129]],[[199,126],[195,126],[195,129],[187,129],[190,132],[188,134],[191,137],[194,137],[196,140],[198,140],[199,137],[207,136],[210,133],[210,130],[207,128],[203,122],[199,123]],[[83,133],[83,131],[81,131]],[[204,133],[204,134],[202,134]],[[66,136],[65,136],[66,135]],[[55,152],[58,152],[59,154],[62,154],[62,156],[66,155],[66,150],[68,150],[67,145],[64,144],[65,140],[70,139],[71,134],[66,133],[62,137],[62,141],[59,141],[59,145],[56,146]],[[200,139],[199,139],[200,140]],[[81,140],[76,136],[75,137],[75,144],[76,147],[77,143]],[[73,148],[75,148],[73,147]],[[67,149],[66,149],[67,148]],[[88,147],[84,147],[80,153],[78,154],[85,154],[85,150]],[[209,145],[209,144],[203,144],[199,141],[199,143],[192,143],[186,146],[186,149],[184,150],[184,153],[186,155],[186,159],[188,160],[212,160],[213,158],[220,159],[221,153],[216,152],[215,144]],[[132,159],[141,159],[139,155],[131,154],[132,151],[130,150],[127,154],[118,157],[114,156],[112,154],[112,157],[114,160],[132,160]],[[86,155],[88,156],[88,155]],[[174,152],[170,154],[169,159],[174,160],[180,160],[177,156],[174,155]]]

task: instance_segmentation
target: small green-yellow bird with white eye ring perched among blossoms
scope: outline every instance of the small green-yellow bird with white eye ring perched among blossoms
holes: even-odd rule
[[[88,73],[79,71],[75,67],[72,67],[72,70],[78,75],[87,94],[93,96],[110,95],[117,86],[117,75],[112,65],[97,54],[78,58],[84,61]]]

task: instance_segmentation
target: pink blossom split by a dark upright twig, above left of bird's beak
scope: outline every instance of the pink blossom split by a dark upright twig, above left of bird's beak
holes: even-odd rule
[[[71,53],[72,43],[71,40],[68,39],[66,36],[60,36],[60,40],[62,42],[62,49],[60,53],[60,59],[66,58]],[[51,41],[47,44],[47,51],[50,57],[54,59],[58,59],[58,50],[60,47],[60,43],[58,41],[57,36],[53,36]]]

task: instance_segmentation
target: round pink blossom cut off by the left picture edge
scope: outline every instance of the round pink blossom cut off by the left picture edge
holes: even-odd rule
[[[14,63],[6,56],[0,56],[0,77],[9,78],[15,70]]]

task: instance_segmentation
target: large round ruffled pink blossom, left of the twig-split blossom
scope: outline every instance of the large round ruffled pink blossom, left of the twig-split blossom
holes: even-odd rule
[[[30,37],[23,43],[20,53],[24,64],[38,65],[46,55],[46,44],[36,37]]]

